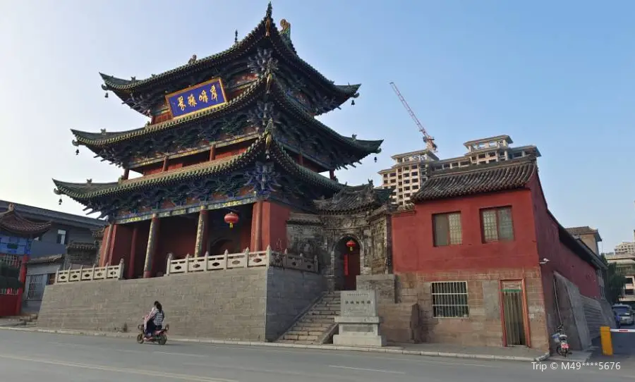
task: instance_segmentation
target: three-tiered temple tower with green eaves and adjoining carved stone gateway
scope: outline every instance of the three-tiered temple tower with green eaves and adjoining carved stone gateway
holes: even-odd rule
[[[72,130],[75,146],[123,168],[119,180],[54,180],[58,195],[107,216],[101,265],[123,261],[126,278],[154,277],[168,254],[269,246],[318,257],[332,280],[385,271],[389,192],[334,176],[379,153],[382,140],[344,137],[315,118],[354,104],[360,85],[334,85],[303,61],[271,4],[225,51],[143,80],[102,78],[107,97],[150,120],[126,131]],[[337,252],[353,247],[358,269],[341,269],[350,264]],[[337,283],[331,288],[344,288]]]

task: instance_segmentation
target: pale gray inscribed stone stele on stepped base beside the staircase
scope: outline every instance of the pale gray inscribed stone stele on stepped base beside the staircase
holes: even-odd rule
[[[341,316],[335,317],[339,334],[333,336],[334,345],[385,346],[380,334],[376,290],[344,290],[341,292]]]

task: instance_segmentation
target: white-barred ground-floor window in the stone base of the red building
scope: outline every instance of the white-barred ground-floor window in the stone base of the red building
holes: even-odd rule
[[[433,317],[468,317],[467,282],[432,283]]]

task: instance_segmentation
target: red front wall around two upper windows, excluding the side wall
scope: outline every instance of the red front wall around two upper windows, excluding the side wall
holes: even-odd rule
[[[531,192],[516,190],[416,204],[413,211],[392,216],[392,254],[395,273],[430,273],[471,269],[536,266],[536,233]],[[512,207],[514,240],[483,243],[479,209]],[[461,211],[460,245],[433,245],[433,214]]]

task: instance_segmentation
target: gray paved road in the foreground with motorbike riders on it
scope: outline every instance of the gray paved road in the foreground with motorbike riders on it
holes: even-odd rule
[[[545,371],[531,362],[134,340],[0,330],[0,379],[47,382],[635,381],[635,366]]]

